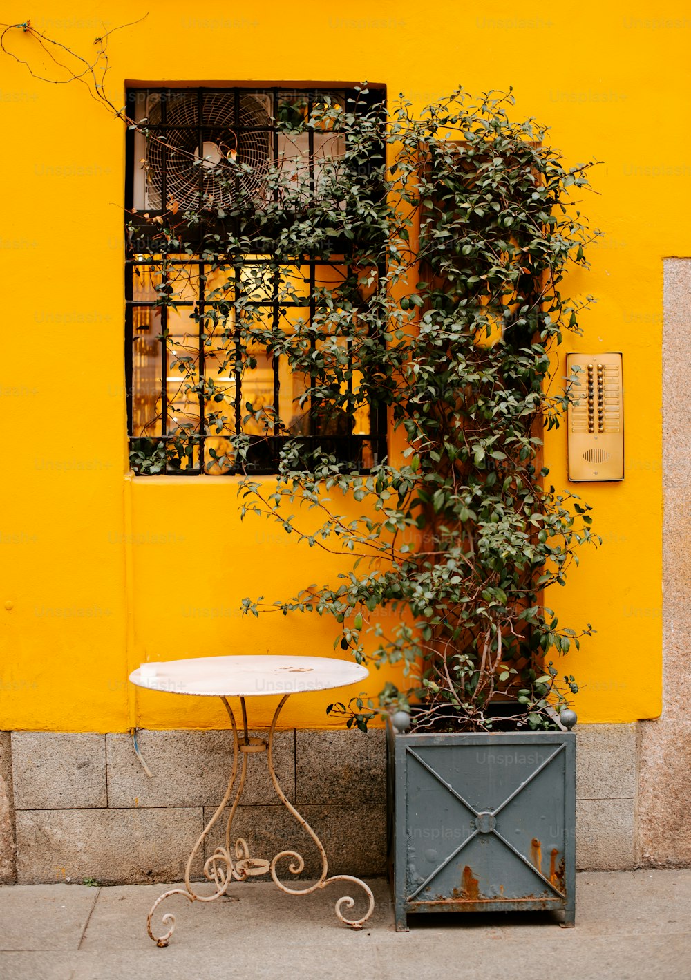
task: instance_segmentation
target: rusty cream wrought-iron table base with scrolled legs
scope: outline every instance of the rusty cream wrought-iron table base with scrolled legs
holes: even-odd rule
[[[230,717],[230,723],[232,725],[232,741],[233,741],[233,761],[232,761],[232,771],[230,773],[230,778],[228,780],[227,789],[225,790],[225,795],[220,803],[218,809],[212,816],[211,820],[207,823],[206,827],[199,836],[196,844],[192,848],[192,853],[187,859],[187,865],[185,867],[184,875],[184,888],[172,888],[168,892],[164,892],[156,902],[154,903],[149,916],[147,919],[147,931],[149,936],[156,943],[157,946],[168,946],[171,936],[175,931],[175,916],[172,912],[166,912],[163,916],[163,924],[168,926],[168,932],[163,936],[157,937],[154,935],[152,929],[152,919],[156,909],[169,899],[173,895],[184,895],[184,897],[189,902],[215,902],[220,899],[222,895],[225,895],[228,885],[233,881],[246,881],[247,878],[261,876],[264,874],[271,874],[273,883],[282,892],[288,895],[311,895],[312,892],[316,892],[318,889],[325,888],[326,885],[330,885],[334,881],[351,881],[356,885],[359,885],[364,889],[365,894],[368,897],[369,907],[365,915],[357,919],[350,919],[343,914],[343,908],[353,908],[355,907],[355,900],[350,896],[343,896],[343,898],[338,899],[335,904],[336,915],[345,925],[351,927],[351,929],[362,929],[363,925],[370,918],[372,911],[374,910],[374,897],[371,894],[370,888],[361,881],[360,878],[355,878],[349,874],[336,874],[328,877],[328,862],[326,859],[326,852],[323,849],[321,840],[309,825],[307,820],[298,813],[292,804],[288,801],[287,797],[283,793],[278,780],[276,779],[275,769],[273,767],[273,734],[275,732],[276,721],[278,720],[278,715],[288,700],[289,695],[285,695],[276,710],[273,712],[273,718],[271,719],[271,728],[269,729],[269,738],[265,741],[259,738],[250,738],[247,728],[247,710],[245,707],[245,699],[240,698],[240,704],[242,706],[242,723],[243,723],[243,736],[240,739],[237,731],[237,723],[235,722],[235,715],[233,714],[230,704],[227,698],[222,697],[222,703],[225,706],[225,710],[228,712]],[[283,806],[289,810],[298,821],[298,823],[305,828],[310,837],[313,839],[321,856],[321,875],[319,881],[310,885],[307,888],[289,888],[283,882],[279,881],[278,875],[276,873],[276,864],[281,858],[292,858],[290,864],[288,865],[288,870],[291,874],[300,874],[300,872],[305,867],[305,860],[296,851],[280,851],[271,860],[266,858],[252,858],[250,855],[250,849],[247,842],[242,838],[238,837],[235,842],[231,845],[231,833],[232,833],[232,821],[235,815],[235,810],[240,803],[242,798],[242,793],[245,788],[245,779],[247,777],[247,757],[250,755],[258,753],[267,753],[267,764],[269,766],[269,773],[271,775],[271,782],[273,783],[273,788],[276,794],[283,804]],[[239,764],[239,760],[242,758],[242,764]],[[216,891],[212,895],[200,895],[192,887],[190,881],[190,872],[192,868],[192,863],[196,857],[199,849],[204,844],[204,841],[208,837],[212,827],[221,817],[223,810],[226,808],[232,796],[233,789],[235,787],[235,782],[237,780],[238,769],[240,769],[240,780],[235,792],[235,797],[232,801],[230,807],[230,813],[228,814],[227,822],[225,824],[225,844],[222,847],[218,847],[211,858],[207,858],[204,862],[204,877],[207,881],[214,883]]]

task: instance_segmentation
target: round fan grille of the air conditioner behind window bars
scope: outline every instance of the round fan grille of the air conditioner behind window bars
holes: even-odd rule
[[[235,93],[230,91],[203,92],[201,98],[195,91],[171,94],[166,98],[165,115],[158,96],[147,108],[146,179],[152,210],[161,211],[164,204],[171,207],[173,202],[181,211],[198,210],[200,205],[227,208],[238,191],[262,196],[270,164],[271,117],[266,96],[240,95],[237,119]],[[236,151],[233,162],[231,151]],[[198,163],[200,156],[205,161],[202,164]],[[243,172],[242,165],[251,172]],[[166,202],[162,201],[164,167]]]

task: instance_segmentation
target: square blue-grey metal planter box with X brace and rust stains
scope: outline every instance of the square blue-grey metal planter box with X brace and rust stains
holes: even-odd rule
[[[563,908],[573,925],[575,735],[389,726],[396,929],[417,912]]]

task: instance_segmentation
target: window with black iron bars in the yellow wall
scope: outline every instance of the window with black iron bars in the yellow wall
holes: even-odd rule
[[[292,259],[284,253],[277,259],[268,249],[215,253],[202,240],[194,214],[200,202],[212,202],[221,216],[224,209],[231,213],[239,194],[262,207],[263,174],[271,163],[319,188],[328,161],[343,152],[344,137],[291,123],[309,118],[325,97],[345,105],[352,94],[280,88],[128,92],[128,115],[140,123],[128,134],[125,202],[127,418],[136,472],[276,472],[288,439],[306,454],[319,449],[361,472],[383,460],[386,411],[360,396],[361,389],[371,389],[352,370],[355,345],[371,327],[357,315],[348,335],[328,327],[333,296],[347,304],[362,288],[364,270],[353,267],[345,250]],[[223,158],[248,165],[230,185],[209,166]],[[147,237],[162,214],[178,220],[176,251],[163,251],[159,240]],[[371,270],[368,281],[377,272]],[[268,325],[280,328],[284,349],[267,345]],[[291,368],[291,338],[309,345],[331,384],[339,365],[351,368],[342,371],[338,397],[329,399],[319,376]],[[245,445],[241,462],[238,437]]]

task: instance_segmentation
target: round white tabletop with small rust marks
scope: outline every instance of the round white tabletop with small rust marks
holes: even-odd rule
[[[351,661],[266,655],[142,663],[129,679],[138,687],[171,694],[253,698],[346,687],[369,673]]]

